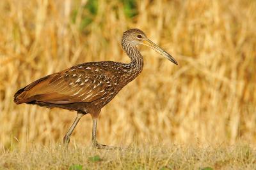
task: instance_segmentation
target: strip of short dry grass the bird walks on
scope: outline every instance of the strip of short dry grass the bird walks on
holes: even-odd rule
[[[88,146],[33,146],[2,150],[0,169],[255,169],[248,145],[144,146],[125,151]]]

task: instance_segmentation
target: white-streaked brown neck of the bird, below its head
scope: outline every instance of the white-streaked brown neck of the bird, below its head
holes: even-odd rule
[[[131,63],[129,63],[129,72],[134,75],[134,78],[141,73],[144,61],[143,57],[138,50],[138,48],[134,45],[123,45],[125,53],[130,57]]]

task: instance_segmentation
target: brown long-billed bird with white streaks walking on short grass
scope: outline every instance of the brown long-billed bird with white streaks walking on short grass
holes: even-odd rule
[[[134,80],[142,71],[143,56],[139,45],[149,46],[168,60],[178,62],[168,52],[147,38],[140,29],[129,29],[123,33],[122,48],[131,59],[129,63],[100,61],[85,62],[58,73],[49,74],[18,90],[14,95],[16,104],[36,104],[47,108],[62,108],[77,111],[76,119],[63,138],[70,143],[70,136],[77,123],[86,114],[92,116],[92,146],[99,149],[115,150],[120,147],[101,145],[97,142],[97,118],[100,110],[118,92]]]

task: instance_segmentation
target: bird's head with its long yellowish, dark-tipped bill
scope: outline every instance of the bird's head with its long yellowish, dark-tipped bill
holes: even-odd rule
[[[126,45],[145,45],[149,46],[156,52],[160,53],[166,59],[172,61],[174,64],[178,65],[178,62],[170,55],[168,52],[164,51],[161,47],[157,46],[155,43],[150,41],[150,39],[147,38],[146,34],[141,31],[140,29],[129,29],[124,32],[123,38],[122,38],[122,45],[125,47]]]

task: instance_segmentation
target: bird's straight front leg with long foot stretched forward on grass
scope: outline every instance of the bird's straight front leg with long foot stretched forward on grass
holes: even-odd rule
[[[97,149],[107,149],[107,150],[116,150],[122,148],[108,145],[100,145],[96,140],[96,129],[97,129],[97,118],[92,119],[92,146]]]

